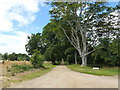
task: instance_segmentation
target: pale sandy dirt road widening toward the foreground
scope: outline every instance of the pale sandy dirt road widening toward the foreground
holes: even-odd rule
[[[12,88],[118,88],[117,76],[94,76],[58,66],[49,73]]]

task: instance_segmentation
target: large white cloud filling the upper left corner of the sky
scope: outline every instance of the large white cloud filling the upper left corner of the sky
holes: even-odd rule
[[[13,31],[13,21],[19,26],[33,22],[39,3],[40,0],[0,0],[0,32]]]

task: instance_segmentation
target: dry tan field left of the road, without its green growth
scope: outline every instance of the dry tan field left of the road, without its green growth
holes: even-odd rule
[[[44,64],[49,64],[51,63],[50,61],[44,61]],[[10,85],[13,84],[14,81],[21,81],[21,79],[19,79],[20,76],[24,76],[26,74],[30,74],[32,72],[37,72],[39,71],[39,69],[34,69],[31,71],[26,71],[24,73],[17,73],[15,74],[15,76],[11,76],[11,72],[8,72],[8,69],[14,65],[14,64],[18,64],[18,65],[30,65],[30,61],[5,61],[4,63],[0,63],[0,89],[1,87],[9,87]],[[12,82],[11,82],[12,81]],[[16,84],[18,82],[14,82],[14,84]]]

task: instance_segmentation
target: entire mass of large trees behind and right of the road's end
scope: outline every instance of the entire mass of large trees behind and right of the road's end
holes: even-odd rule
[[[43,32],[28,36],[26,51],[29,55],[38,50],[44,60],[53,64],[60,64],[61,60],[65,64],[82,64],[84,60],[88,65],[120,64],[118,22],[111,15],[120,8],[118,5],[115,8],[104,2],[53,2],[50,5],[52,19]],[[82,9],[78,15],[75,10],[79,8]]]

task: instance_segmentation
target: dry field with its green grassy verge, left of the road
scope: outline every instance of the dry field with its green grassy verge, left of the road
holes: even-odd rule
[[[30,62],[29,61],[6,61],[4,64],[0,64],[1,65],[1,75],[0,75],[0,79],[1,79],[1,87],[9,87],[13,84],[17,84],[20,83],[24,80],[29,80],[29,79],[33,79],[36,77],[39,77],[47,72],[49,72],[50,70],[52,70],[52,68],[55,67],[55,65],[52,64],[44,64],[44,66],[46,67],[46,69],[34,69],[32,68],[31,70],[28,71],[24,71],[24,72],[16,72],[15,75],[12,76],[11,72],[7,71],[7,68],[13,66],[13,65],[21,65],[21,66],[30,66]],[[14,71],[15,72],[15,71]]]

